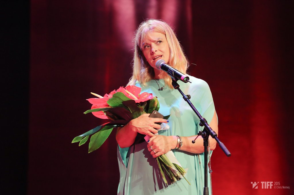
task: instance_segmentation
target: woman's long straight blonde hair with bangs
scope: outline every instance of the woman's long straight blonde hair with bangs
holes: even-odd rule
[[[170,49],[170,57],[168,64],[182,73],[186,74],[188,69],[188,60],[183,49],[171,29],[171,27],[163,20],[150,19],[142,22],[136,30],[134,42],[134,58],[133,58],[133,75],[128,85],[135,85],[139,81],[143,86],[154,78],[154,69],[149,65],[142,52],[142,42],[148,37],[149,32],[162,33],[166,35],[166,40]],[[173,89],[171,77],[166,73],[164,76],[165,85]]]

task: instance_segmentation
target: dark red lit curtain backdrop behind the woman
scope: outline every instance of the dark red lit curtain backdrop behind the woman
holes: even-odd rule
[[[146,18],[174,28],[190,74],[210,85],[232,153],[213,152],[213,193],[294,194],[292,10],[284,1],[32,0],[28,194],[116,194],[115,132],[89,154],[71,141],[103,122],[83,114],[90,92],[128,83]]]

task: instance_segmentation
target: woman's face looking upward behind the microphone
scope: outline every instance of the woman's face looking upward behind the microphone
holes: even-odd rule
[[[162,33],[149,32],[149,36],[143,40],[142,52],[153,69],[156,69],[155,64],[160,59],[168,64],[170,50],[166,36]]]

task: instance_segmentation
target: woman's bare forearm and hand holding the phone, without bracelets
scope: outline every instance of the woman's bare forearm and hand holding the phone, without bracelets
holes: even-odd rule
[[[131,120],[128,124],[119,128],[116,133],[116,141],[121,148],[130,147],[137,136],[137,133],[153,137],[160,129],[158,122],[167,123],[165,119],[149,118],[150,114],[142,114],[140,117]]]

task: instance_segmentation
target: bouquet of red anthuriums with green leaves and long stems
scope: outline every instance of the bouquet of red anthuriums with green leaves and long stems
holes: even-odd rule
[[[92,93],[98,98],[88,99],[92,104],[92,107],[91,110],[87,110],[84,114],[91,112],[94,116],[101,119],[110,119],[111,122],[104,123],[75,137],[71,143],[79,142],[79,146],[81,146],[86,143],[91,136],[88,153],[93,152],[105,142],[113,128],[122,127],[132,119],[141,116],[141,114],[151,113],[153,110],[158,111],[159,102],[157,98],[153,97],[152,93],[144,92],[140,94],[140,92],[141,88],[134,85],[128,85],[125,88],[120,87],[117,90],[113,90],[111,93],[105,94],[103,97]],[[165,116],[164,119],[168,119],[168,117],[169,116]],[[170,151],[170,153],[172,153],[172,151]],[[172,163],[167,155],[163,154],[157,157],[156,161],[166,185],[168,185],[168,182],[165,174],[171,179],[172,183],[180,178],[185,178],[184,175],[186,171],[179,165],[179,163]]]

